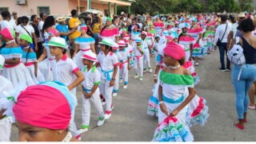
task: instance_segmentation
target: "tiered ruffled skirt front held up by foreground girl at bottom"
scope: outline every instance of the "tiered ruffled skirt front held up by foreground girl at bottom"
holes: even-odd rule
[[[177,118],[168,116],[154,131],[153,142],[193,142],[194,136],[188,126]]]

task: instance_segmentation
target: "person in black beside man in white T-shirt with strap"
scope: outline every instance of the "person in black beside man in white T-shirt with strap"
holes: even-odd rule
[[[38,28],[38,23],[40,21],[40,19],[38,18],[38,15],[34,14],[31,16],[31,25],[34,28],[34,33],[37,37],[37,41],[38,41],[38,53],[37,53],[37,57],[40,57],[42,55],[42,38],[40,37],[40,30]]]

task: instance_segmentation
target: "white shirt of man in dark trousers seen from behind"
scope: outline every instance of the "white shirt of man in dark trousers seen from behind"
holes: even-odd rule
[[[216,29],[216,33],[215,33],[215,37],[214,37],[214,45],[217,44],[217,41],[218,41],[218,38],[221,40],[222,37],[223,37],[223,34],[225,32],[225,29],[226,29],[226,33],[222,39],[222,43],[225,43],[227,42],[227,36],[229,35],[230,33],[230,28],[229,26],[227,26],[226,28],[226,25],[228,24],[221,24],[221,25],[218,25],[217,29]]]

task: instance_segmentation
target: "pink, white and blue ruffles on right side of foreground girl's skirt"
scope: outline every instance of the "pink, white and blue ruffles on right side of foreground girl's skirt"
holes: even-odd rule
[[[186,117],[187,126],[191,127],[197,124],[204,126],[210,116],[208,111],[209,107],[206,106],[206,99],[200,97],[198,107],[194,111],[189,110],[189,116]]]

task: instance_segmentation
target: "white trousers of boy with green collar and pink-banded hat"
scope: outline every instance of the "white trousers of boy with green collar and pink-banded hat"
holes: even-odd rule
[[[90,99],[86,99],[85,96],[82,95],[82,125],[89,126],[90,124],[90,105],[94,105],[98,118],[104,119],[104,111],[99,94],[99,90],[96,90]]]

